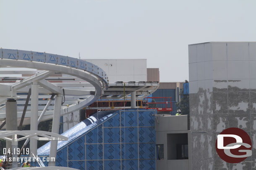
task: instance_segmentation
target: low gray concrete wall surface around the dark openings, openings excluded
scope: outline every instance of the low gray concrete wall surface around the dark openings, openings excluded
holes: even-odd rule
[[[157,115],[156,120],[156,144],[164,145],[164,160],[157,160],[157,170],[190,170],[191,167],[191,132],[188,130],[188,115],[170,116]],[[168,160],[168,153],[176,152],[169,148],[168,135],[187,134],[188,137],[188,160]],[[170,141],[169,136],[169,142]],[[175,141],[175,140],[173,140]]]

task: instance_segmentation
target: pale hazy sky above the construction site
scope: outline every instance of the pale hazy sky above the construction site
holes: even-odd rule
[[[0,0],[0,47],[97,59],[146,58],[188,80],[188,44],[256,41],[255,0]]]

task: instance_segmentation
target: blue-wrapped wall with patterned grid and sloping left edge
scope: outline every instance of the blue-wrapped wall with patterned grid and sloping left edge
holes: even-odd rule
[[[126,109],[94,114],[64,132],[56,166],[79,170],[155,170],[155,110]],[[49,157],[50,142],[37,150]],[[47,166],[48,162],[44,162]]]

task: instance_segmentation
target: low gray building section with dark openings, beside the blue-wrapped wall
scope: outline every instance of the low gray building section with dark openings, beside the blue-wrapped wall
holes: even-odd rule
[[[191,170],[188,115],[157,114],[155,124],[157,170]]]

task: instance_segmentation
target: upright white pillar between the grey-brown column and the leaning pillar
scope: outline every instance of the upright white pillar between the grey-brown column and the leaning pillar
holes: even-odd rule
[[[30,116],[30,130],[37,130],[38,119],[38,84],[33,82],[31,85],[31,116]],[[32,153],[37,156],[37,140],[30,139],[30,157]]]

